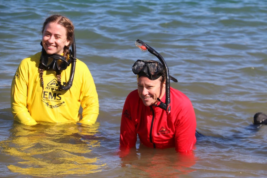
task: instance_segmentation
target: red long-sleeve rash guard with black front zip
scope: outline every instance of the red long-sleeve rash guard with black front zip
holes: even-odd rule
[[[170,114],[156,106],[145,106],[134,90],[127,96],[121,116],[120,147],[140,142],[152,148],[175,147],[177,152],[192,150],[196,142],[195,111],[187,96],[170,88]],[[165,102],[165,95],[161,99]]]

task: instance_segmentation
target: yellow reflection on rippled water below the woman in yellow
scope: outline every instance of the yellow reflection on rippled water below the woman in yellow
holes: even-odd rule
[[[103,141],[99,123],[91,127],[50,123],[26,126],[13,121],[10,113],[9,109],[0,111],[2,175],[8,176],[11,171],[18,175],[64,177],[99,172],[105,167],[94,152]]]

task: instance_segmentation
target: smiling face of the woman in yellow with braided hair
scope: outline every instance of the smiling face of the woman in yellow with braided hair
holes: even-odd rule
[[[62,54],[64,46],[69,45],[66,28],[55,22],[46,24],[42,44],[47,54]]]

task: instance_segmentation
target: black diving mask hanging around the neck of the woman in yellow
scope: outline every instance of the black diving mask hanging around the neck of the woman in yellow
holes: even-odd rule
[[[53,70],[56,72],[65,70],[70,64],[70,60],[67,61],[66,58],[60,54],[41,55],[40,62],[48,70]]]

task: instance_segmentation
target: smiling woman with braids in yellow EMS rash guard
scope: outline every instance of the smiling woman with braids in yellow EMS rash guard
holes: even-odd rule
[[[25,125],[96,122],[99,104],[94,80],[85,63],[71,55],[70,46],[76,53],[73,44],[71,20],[62,15],[45,20],[42,52],[23,59],[12,80],[11,110],[16,121]],[[70,80],[72,85],[66,87]]]

